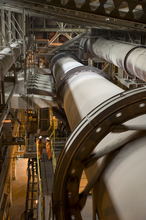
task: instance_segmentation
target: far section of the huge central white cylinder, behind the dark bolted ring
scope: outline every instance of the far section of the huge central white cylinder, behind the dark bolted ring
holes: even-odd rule
[[[101,70],[83,66],[70,55],[56,55],[52,63],[58,98],[71,130],[96,106],[123,91],[107,80]]]

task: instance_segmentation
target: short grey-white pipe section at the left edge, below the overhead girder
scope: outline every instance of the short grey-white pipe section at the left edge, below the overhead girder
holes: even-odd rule
[[[22,51],[22,41],[15,42],[10,45],[10,48],[5,48],[0,51],[0,64],[2,66],[3,75],[5,75],[11,66],[15,63]]]

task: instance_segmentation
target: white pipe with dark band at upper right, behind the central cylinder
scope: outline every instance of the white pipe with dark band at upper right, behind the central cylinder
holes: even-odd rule
[[[94,55],[123,69],[127,75],[146,81],[146,47],[133,46],[98,38],[87,41],[88,50]]]

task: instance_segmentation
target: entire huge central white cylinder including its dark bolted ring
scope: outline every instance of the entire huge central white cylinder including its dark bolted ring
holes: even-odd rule
[[[54,57],[52,73],[72,129],[55,171],[56,219],[81,220],[91,189],[99,219],[144,219],[145,89],[124,92],[102,71],[67,54]],[[88,184],[79,194],[84,169]]]

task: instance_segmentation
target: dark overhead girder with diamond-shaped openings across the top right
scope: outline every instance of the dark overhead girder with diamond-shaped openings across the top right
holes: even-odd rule
[[[60,1],[60,0],[3,0],[17,4],[32,13],[57,21],[108,30],[146,32],[146,2],[128,0]]]

